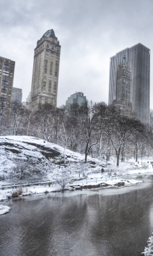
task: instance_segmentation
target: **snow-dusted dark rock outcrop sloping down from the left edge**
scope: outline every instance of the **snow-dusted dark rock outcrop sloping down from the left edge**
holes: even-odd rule
[[[48,163],[63,164],[64,154],[67,163],[77,163],[84,161],[84,154],[73,152],[69,149],[64,150],[63,147],[40,140],[31,136],[0,136],[0,180],[9,177],[9,172],[15,169],[17,161],[41,164],[46,166]],[[88,161],[95,165],[105,166],[98,159],[88,157]],[[40,168],[40,167],[39,167]]]

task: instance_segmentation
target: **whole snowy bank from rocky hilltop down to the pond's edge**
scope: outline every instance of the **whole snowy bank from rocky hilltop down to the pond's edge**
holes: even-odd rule
[[[64,164],[66,157],[66,168]],[[123,174],[152,172],[152,169],[135,168],[131,163],[115,162],[91,157],[84,163],[84,155],[29,136],[0,137],[0,201],[12,196],[80,189],[131,186],[140,180],[123,180]],[[127,169],[128,168],[128,169]],[[101,172],[104,171],[104,172]],[[46,182],[43,182],[47,180]],[[33,182],[36,185],[33,185]],[[41,183],[42,182],[42,183]],[[30,183],[30,184],[29,184]],[[28,185],[29,184],[29,185]],[[18,189],[20,186],[20,189]],[[20,191],[19,191],[20,190]],[[20,193],[19,193],[20,192]]]

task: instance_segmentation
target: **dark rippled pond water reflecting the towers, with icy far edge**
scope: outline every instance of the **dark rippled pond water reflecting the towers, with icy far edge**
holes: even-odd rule
[[[153,177],[124,189],[10,200],[0,216],[1,256],[138,256],[153,232]]]

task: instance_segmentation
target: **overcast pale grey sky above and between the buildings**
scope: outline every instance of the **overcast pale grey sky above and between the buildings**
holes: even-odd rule
[[[153,108],[152,0],[0,0],[0,56],[15,61],[13,86],[31,91],[36,42],[54,29],[61,44],[57,106],[75,92],[108,103],[110,57],[142,43],[150,49]]]

